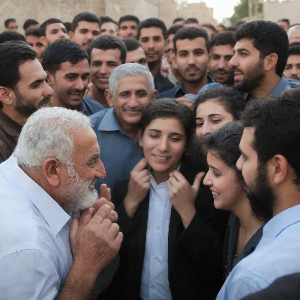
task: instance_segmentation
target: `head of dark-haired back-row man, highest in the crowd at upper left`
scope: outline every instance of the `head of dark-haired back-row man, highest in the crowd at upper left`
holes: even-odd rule
[[[101,21],[92,13],[79,13],[72,22],[72,32],[70,38],[73,42],[82,46],[88,51],[91,41],[101,34]]]

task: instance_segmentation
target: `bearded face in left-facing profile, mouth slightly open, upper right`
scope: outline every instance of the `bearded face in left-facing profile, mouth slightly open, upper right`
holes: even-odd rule
[[[234,74],[234,87],[250,92],[265,77],[263,59],[259,58],[259,50],[253,46],[253,41],[247,38],[237,41],[233,52],[228,65]]]

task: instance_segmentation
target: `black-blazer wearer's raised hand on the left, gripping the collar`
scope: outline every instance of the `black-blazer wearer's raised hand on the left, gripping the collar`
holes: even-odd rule
[[[134,216],[150,188],[150,176],[146,166],[146,158],[143,158],[130,172],[128,192],[124,199],[125,211],[130,218]]]

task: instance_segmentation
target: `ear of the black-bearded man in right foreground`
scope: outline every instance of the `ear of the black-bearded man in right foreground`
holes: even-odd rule
[[[280,184],[287,177],[289,163],[287,159],[281,155],[274,155],[269,161],[269,175],[275,184]]]

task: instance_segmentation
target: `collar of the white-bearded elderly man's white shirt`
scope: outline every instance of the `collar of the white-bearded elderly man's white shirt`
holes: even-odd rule
[[[12,160],[13,164],[11,172],[13,179],[44,217],[52,232],[57,235],[70,219],[70,215],[18,166],[14,156],[9,159]]]

